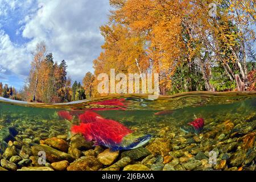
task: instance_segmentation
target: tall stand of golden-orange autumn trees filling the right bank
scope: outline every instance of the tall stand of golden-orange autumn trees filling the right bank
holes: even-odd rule
[[[164,94],[174,88],[175,74],[181,72],[186,75],[185,90],[214,91],[213,71],[221,70],[229,79],[230,88],[235,84],[238,90],[245,90],[247,57],[251,55],[247,50],[255,41],[255,2],[216,1],[214,15],[209,14],[209,3],[110,0],[114,10],[110,11],[109,22],[101,27],[105,43],[94,60],[94,75],[110,68],[119,73],[134,73],[142,68],[142,73],[159,73]],[[201,84],[200,77],[203,86],[189,86],[196,80]]]

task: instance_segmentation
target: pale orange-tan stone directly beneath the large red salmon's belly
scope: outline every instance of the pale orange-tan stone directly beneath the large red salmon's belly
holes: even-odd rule
[[[119,151],[111,152],[109,149],[106,149],[97,156],[97,159],[105,166],[110,166],[118,158],[118,155]]]

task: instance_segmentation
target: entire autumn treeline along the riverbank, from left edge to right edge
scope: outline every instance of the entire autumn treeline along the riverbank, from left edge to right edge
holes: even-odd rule
[[[57,64],[41,42],[30,75],[17,92],[0,84],[6,98],[68,102],[98,97],[100,73],[159,73],[160,94],[250,91],[256,82],[255,0],[110,0],[109,22],[100,27],[102,52],[82,83]],[[214,14],[210,14],[210,12]]]

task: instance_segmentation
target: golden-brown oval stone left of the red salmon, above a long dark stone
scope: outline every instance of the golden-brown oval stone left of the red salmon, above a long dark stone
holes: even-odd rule
[[[46,140],[44,140],[44,142],[48,146],[56,148],[59,151],[68,152],[69,144],[63,139],[53,137],[47,138]]]

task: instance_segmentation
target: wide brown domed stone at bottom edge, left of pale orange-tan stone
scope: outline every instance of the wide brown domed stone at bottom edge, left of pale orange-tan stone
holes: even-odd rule
[[[71,163],[67,168],[68,171],[97,171],[102,167],[102,164],[96,157],[86,156],[82,159]]]

